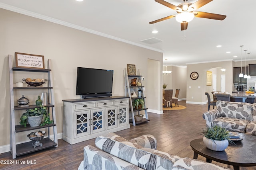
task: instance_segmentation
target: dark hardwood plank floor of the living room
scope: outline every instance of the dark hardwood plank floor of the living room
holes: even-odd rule
[[[190,147],[190,141],[202,138],[200,131],[206,126],[202,113],[207,111],[208,105],[186,104],[186,101],[179,101],[179,104],[186,106],[186,109],[164,111],[164,114],[148,113],[149,122],[132,126],[130,129],[115,132],[116,134],[130,140],[140,135],[151,134],[158,141],[157,149],[180,157],[193,158],[194,152]],[[210,106],[212,108],[212,106]],[[0,169],[6,170],[77,170],[83,160],[83,148],[86,145],[93,145],[94,139],[70,145],[58,140],[57,148],[50,148],[18,156],[12,159],[10,152],[0,154],[0,160],[14,161],[11,164],[0,164]],[[202,156],[198,159],[206,161]],[[36,161],[36,164],[27,164],[27,161]],[[25,164],[21,164],[25,161]],[[19,163],[20,162],[20,163]],[[212,162],[227,167],[226,164]],[[233,168],[231,166],[231,168]],[[240,167],[240,170],[256,170],[256,167]]]

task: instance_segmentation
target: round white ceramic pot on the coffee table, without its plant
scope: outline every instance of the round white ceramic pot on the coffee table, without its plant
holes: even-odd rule
[[[203,141],[208,149],[214,150],[214,151],[223,151],[228,147],[227,139],[223,141],[216,141],[216,140],[208,139],[207,137],[203,137]]]

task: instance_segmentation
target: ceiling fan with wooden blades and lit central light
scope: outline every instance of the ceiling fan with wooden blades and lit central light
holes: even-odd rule
[[[188,29],[188,22],[192,21],[194,17],[208,18],[213,20],[224,20],[226,18],[226,16],[220,15],[220,14],[212,14],[208,12],[195,11],[198,8],[201,8],[202,6],[208,4],[212,0],[198,0],[193,4],[190,2],[187,2],[187,0],[183,0],[184,3],[179,4],[178,6],[170,4],[169,2],[166,2],[164,0],[155,0],[155,1],[173,10],[176,10],[178,14],[167,16],[155,21],[151,21],[150,24],[176,17],[176,20],[180,22],[181,31],[183,31],[185,29]]]

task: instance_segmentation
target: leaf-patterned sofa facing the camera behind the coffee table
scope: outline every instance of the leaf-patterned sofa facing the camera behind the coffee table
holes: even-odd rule
[[[217,101],[216,107],[203,113],[206,127],[219,125],[229,131],[256,136],[256,104]]]

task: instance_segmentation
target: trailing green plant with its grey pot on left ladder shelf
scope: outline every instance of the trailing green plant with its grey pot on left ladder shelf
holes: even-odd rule
[[[25,113],[20,117],[20,125],[26,127],[27,123],[31,127],[44,126],[53,123],[50,120],[50,113],[48,113],[47,107],[40,105],[40,108],[27,109]]]

